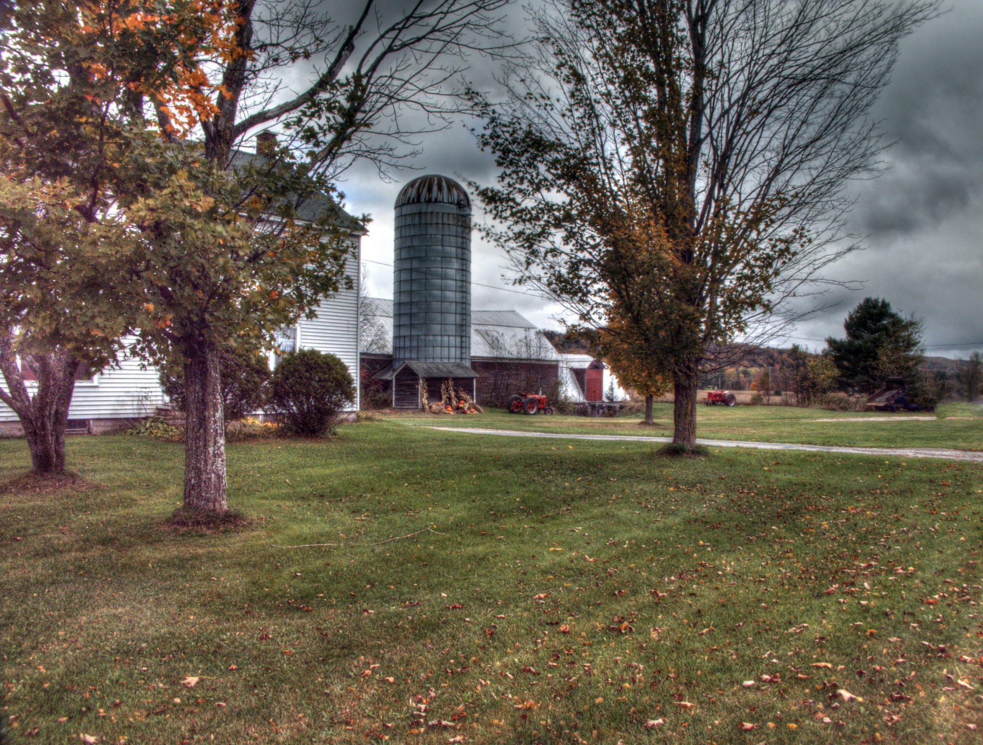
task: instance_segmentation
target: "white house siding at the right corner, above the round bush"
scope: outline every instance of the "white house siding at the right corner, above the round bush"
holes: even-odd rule
[[[356,239],[355,252],[345,264],[345,273],[352,279],[352,289],[341,290],[320,302],[318,317],[302,318],[297,324],[300,349],[316,349],[336,355],[355,380],[356,400],[361,403],[359,380],[359,282],[362,266],[362,241]]]

